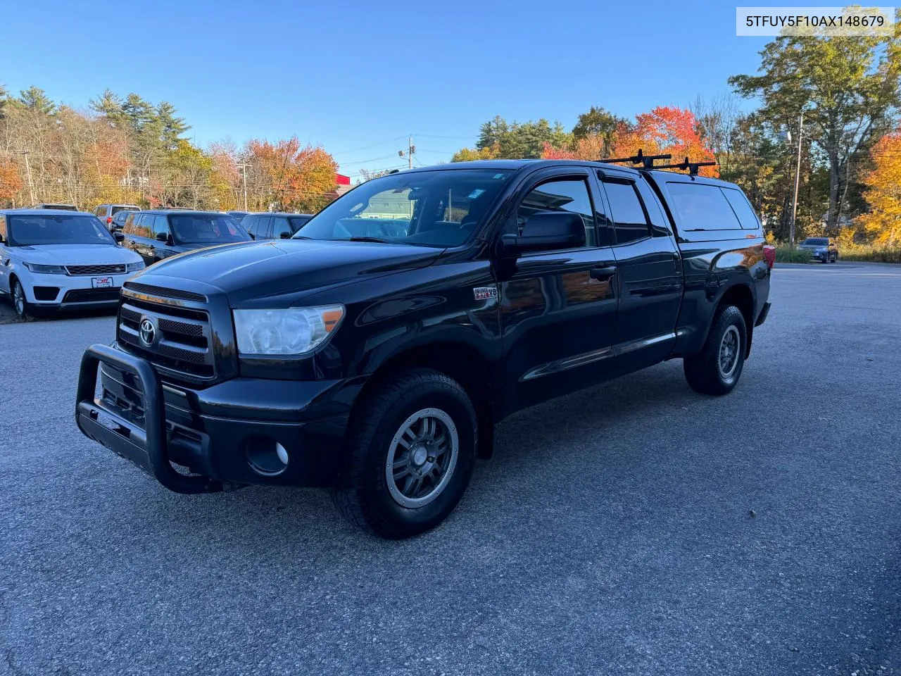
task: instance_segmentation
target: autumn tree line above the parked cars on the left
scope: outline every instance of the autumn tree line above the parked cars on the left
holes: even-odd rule
[[[105,91],[76,110],[39,87],[0,87],[0,206],[39,202],[318,211],[334,196],[332,156],[296,137],[197,147],[166,101]]]

